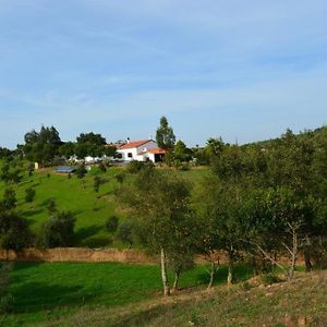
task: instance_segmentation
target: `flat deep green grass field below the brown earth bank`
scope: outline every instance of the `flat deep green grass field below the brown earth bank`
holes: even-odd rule
[[[251,269],[237,268],[239,279],[251,277]],[[90,278],[92,277],[92,278]],[[223,283],[227,269],[216,276]],[[197,266],[181,276],[181,288],[205,287],[208,274]],[[10,292],[14,311],[4,317],[5,326],[22,326],[71,316],[81,306],[121,307],[146,299],[160,298],[161,282],[158,266],[113,263],[40,263],[14,264]]]

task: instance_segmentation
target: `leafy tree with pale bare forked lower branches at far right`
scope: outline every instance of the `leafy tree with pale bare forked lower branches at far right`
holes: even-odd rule
[[[241,213],[244,241],[291,280],[300,246],[315,216],[313,198],[299,197],[286,187],[253,190],[246,194]],[[278,263],[274,252],[289,255],[287,268]]]

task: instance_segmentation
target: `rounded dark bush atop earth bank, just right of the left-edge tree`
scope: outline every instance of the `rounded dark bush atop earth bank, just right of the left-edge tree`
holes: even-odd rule
[[[41,225],[37,243],[41,247],[72,246],[75,217],[71,211],[57,211]]]

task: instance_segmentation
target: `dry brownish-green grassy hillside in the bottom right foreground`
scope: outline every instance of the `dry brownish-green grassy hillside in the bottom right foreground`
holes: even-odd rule
[[[122,308],[81,310],[44,326],[326,326],[327,271],[270,287],[218,286]]]

